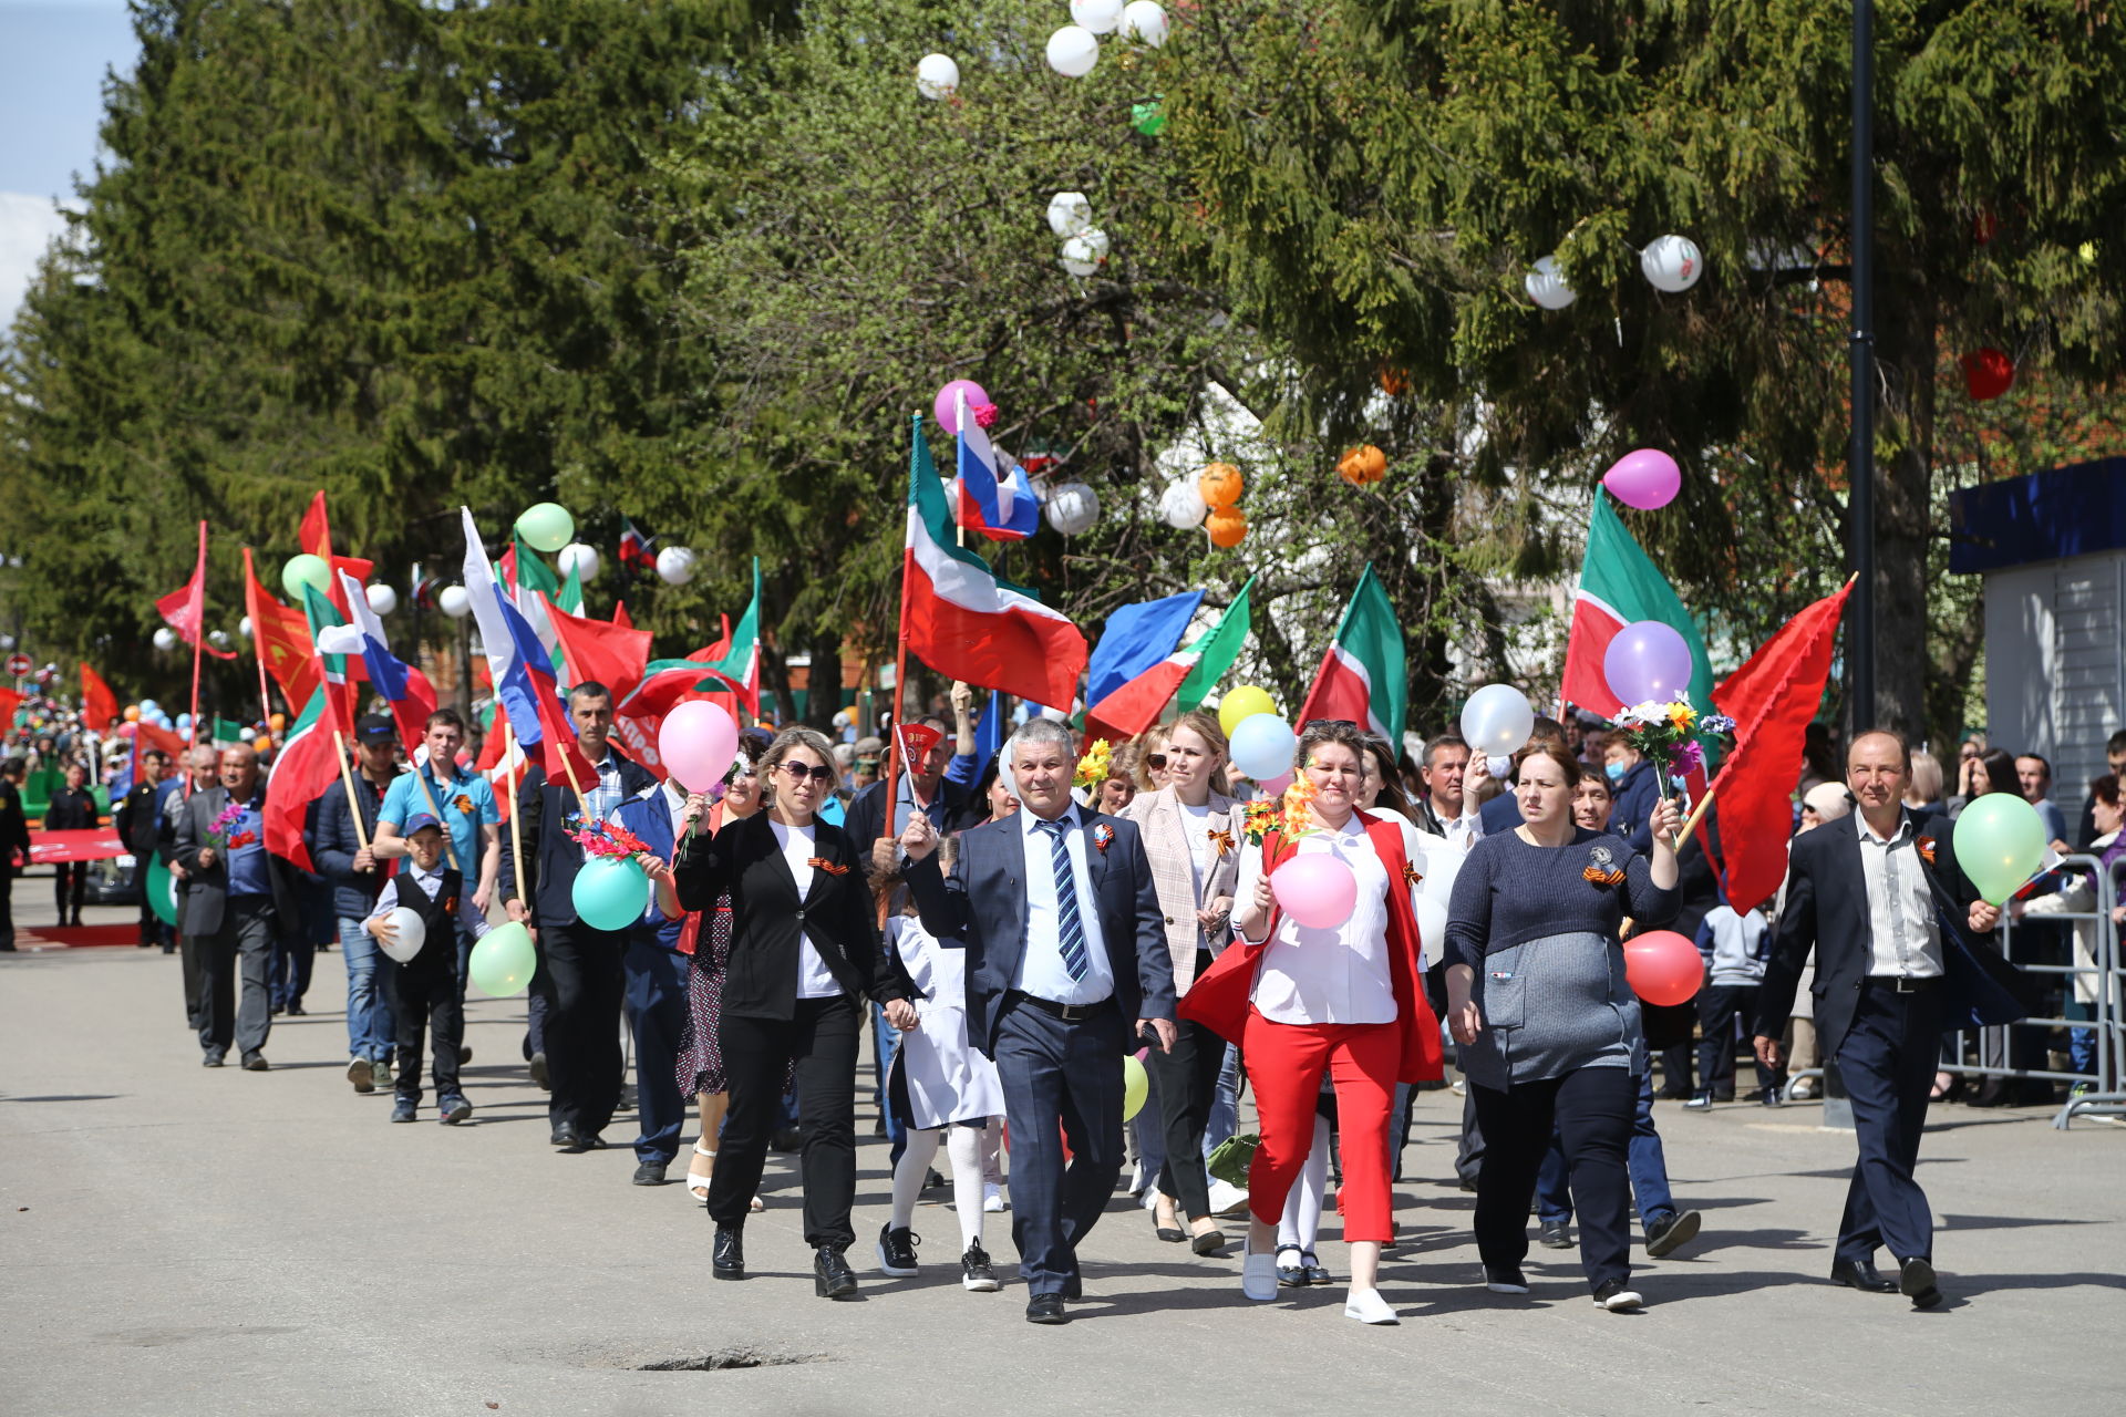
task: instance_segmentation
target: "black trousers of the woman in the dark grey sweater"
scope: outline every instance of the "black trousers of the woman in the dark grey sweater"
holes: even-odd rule
[[[1556,1130],[1580,1213],[1580,1264],[1588,1287],[1631,1277],[1631,1145],[1639,1079],[1629,1069],[1577,1069],[1514,1083],[1469,1083],[1484,1126],[1484,1173],[1475,1183],[1475,1245],[1486,1266],[1520,1268],[1529,1256],[1529,1202]]]

